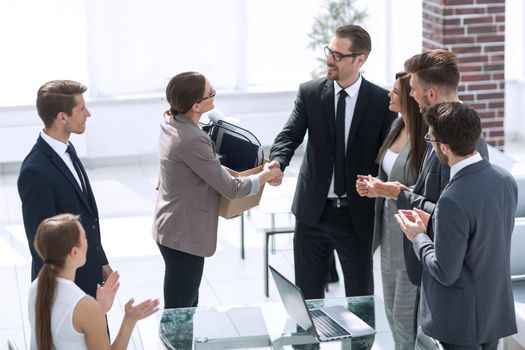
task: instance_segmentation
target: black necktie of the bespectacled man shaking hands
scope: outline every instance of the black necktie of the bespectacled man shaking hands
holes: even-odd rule
[[[334,192],[338,197],[345,194],[345,114],[348,96],[345,90],[339,92],[337,112],[335,114],[335,168]]]

